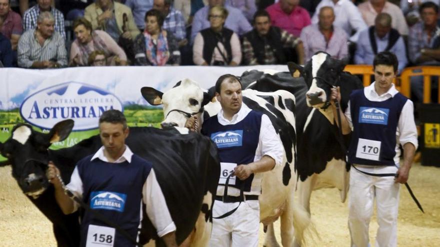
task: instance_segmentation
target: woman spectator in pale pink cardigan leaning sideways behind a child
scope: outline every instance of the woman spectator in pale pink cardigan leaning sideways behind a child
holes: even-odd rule
[[[87,66],[88,54],[102,50],[108,65],[126,65],[127,56],[121,47],[102,30],[93,30],[91,23],[84,17],[73,21],[76,39],[70,47],[69,66]]]

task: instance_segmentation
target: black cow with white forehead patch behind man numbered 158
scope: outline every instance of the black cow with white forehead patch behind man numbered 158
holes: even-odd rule
[[[70,148],[48,150],[51,143],[65,139],[73,126],[72,120],[56,124],[43,134],[27,124],[18,124],[12,136],[0,143],[0,151],[12,166],[12,176],[30,201],[53,223],[59,247],[79,245],[78,215],[63,215],[56,204],[53,186],[45,178],[47,162],[53,161],[65,183],[70,180],[75,163],[95,153],[101,146],[99,136],[82,140]],[[220,174],[217,149],[209,138],[197,133],[181,135],[175,130],[148,127],[130,128],[126,145],[133,153],[149,160],[154,167],[171,217],[176,225],[177,243],[183,242],[194,228],[199,212],[209,210],[213,203],[202,204],[207,195],[215,193]],[[143,211],[145,212],[145,211]],[[148,217],[142,220],[140,243],[157,239]],[[162,246],[161,241],[156,241]]]

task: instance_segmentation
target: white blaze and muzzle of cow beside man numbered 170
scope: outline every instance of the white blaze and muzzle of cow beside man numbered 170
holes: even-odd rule
[[[325,102],[327,100],[327,96],[325,95],[325,91],[322,88],[317,87],[316,79],[314,77],[316,77],[319,68],[325,62],[327,56],[328,55],[326,53],[318,53],[311,57],[311,75],[313,79],[311,80],[310,88],[306,92],[306,95],[319,94],[318,99],[321,102]],[[307,106],[311,106],[315,108],[320,108],[324,105],[324,103],[312,104],[308,96],[306,97],[306,102],[307,102]]]

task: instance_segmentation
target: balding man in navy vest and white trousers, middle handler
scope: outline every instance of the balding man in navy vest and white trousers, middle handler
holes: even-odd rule
[[[281,165],[283,148],[266,115],[241,107],[241,82],[236,76],[220,76],[215,97],[221,110],[201,128],[217,145],[221,164],[209,246],[257,247],[262,173]],[[193,130],[193,122],[190,118],[185,127]]]

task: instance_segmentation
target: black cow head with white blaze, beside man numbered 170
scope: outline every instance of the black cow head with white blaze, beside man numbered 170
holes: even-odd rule
[[[332,58],[323,51],[316,52],[304,67],[295,63],[287,64],[290,73],[299,71],[304,77],[308,91],[307,105],[314,108],[326,108],[329,105],[329,95],[332,86],[340,85],[340,73],[345,67],[341,60]]]

